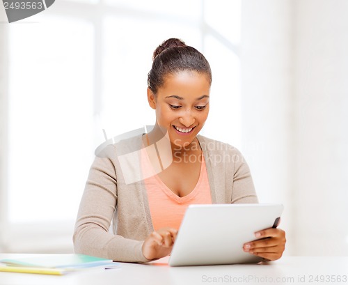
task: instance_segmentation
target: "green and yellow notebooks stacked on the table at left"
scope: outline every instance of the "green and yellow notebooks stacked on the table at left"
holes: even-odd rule
[[[86,268],[102,267],[108,269],[119,266],[111,259],[84,254],[42,254],[22,259],[2,259],[0,263],[4,264],[0,265],[0,271],[57,275]]]

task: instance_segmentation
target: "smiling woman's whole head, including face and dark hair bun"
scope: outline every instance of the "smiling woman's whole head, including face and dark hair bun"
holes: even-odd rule
[[[156,110],[150,139],[161,128],[172,144],[191,144],[207,120],[211,84],[209,63],[197,49],[175,38],[159,45],[148,74],[148,102]]]

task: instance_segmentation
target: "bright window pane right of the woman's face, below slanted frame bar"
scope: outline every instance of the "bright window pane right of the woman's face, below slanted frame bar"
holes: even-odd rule
[[[212,36],[205,40],[205,56],[212,68],[212,88],[204,134],[239,147],[242,135],[239,56]]]

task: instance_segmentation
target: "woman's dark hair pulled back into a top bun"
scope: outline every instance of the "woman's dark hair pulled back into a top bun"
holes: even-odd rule
[[[212,70],[207,59],[194,47],[185,45],[182,40],[170,38],[155,49],[152,68],[148,73],[148,88],[156,94],[164,84],[167,75],[184,70],[206,74],[212,83]]]

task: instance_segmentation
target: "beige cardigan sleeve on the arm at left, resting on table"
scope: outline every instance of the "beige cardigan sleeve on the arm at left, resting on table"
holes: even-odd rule
[[[107,155],[95,157],[90,167],[74,228],[74,252],[113,261],[147,262],[142,253],[143,241],[109,231],[118,201],[114,148],[106,146]]]

